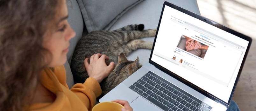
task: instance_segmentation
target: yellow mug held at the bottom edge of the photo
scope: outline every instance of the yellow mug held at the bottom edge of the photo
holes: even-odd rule
[[[121,111],[122,108],[124,108],[124,106],[117,102],[106,101],[96,104],[92,108],[92,111]]]

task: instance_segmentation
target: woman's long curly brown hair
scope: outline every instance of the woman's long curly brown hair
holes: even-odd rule
[[[60,0],[0,0],[0,111],[32,99],[49,51],[43,39]]]

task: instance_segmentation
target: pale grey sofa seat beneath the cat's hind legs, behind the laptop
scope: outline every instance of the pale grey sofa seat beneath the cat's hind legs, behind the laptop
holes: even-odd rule
[[[127,11],[110,30],[119,29],[129,24],[144,24],[144,29],[157,28],[164,1],[200,15],[196,0],[145,0]],[[142,40],[153,42],[154,37],[142,38]],[[134,61],[139,56],[140,63],[144,65],[148,63],[150,53],[151,50],[149,49],[138,49],[127,56],[127,59]]]

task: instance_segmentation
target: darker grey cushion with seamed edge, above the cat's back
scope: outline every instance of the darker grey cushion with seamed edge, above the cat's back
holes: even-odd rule
[[[143,0],[77,0],[79,3],[87,31],[110,27],[127,10]]]

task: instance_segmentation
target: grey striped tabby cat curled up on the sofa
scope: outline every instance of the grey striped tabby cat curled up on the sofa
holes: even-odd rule
[[[132,61],[126,59],[125,55],[129,55],[132,51],[139,48],[152,49],[153,42],[143,41],[139,38],[155,36],[156,29],[143,29],[143,24],[134,24],[113,31],[93,31],[83,36],[76,45],[70,64],[74,82],[83,83],[89,77],[84,66],[85,57],[90,58],[90,56],[96,53],[101,53],[110,58],[106,60],[107,65],[112,61],[116,64],[115,69],[110,73],[109,77],[104,79],[100,84],[103,91],[102,95],[105,95],[121,83],[129,74],[132,74],[141,67],[138,59],[133,64]],[[121,64],[121,62],[126,63]],[[130,66],[134,70],[130,69]],[[129,70],[124,71],[125,69]]]

